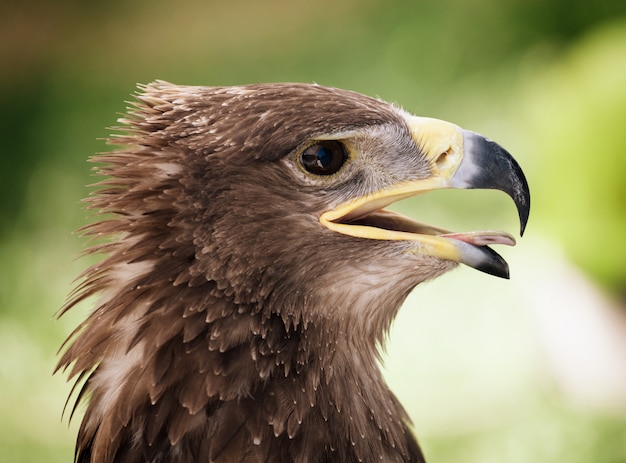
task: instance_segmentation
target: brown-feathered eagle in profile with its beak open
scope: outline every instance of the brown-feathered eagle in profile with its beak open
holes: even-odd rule
[[[390,204],[498,189],[523,233],[524,174],[495,142],[316,84],[140,86],[92,158],[94,222],[61,309],[97,296],[61,348],[84,415],[76,462],[423,462],[380,356],[402,302],[488,245]],[[69,400],[69,398],[68,398]],[[71,418],[71,417],[70,417]]]

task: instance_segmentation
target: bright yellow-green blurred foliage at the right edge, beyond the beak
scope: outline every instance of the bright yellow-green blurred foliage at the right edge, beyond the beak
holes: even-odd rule
[[[592,31],[524,83],[538,226],[626,294],[626,22]],[[532,179],[532,177],[531,177]]]

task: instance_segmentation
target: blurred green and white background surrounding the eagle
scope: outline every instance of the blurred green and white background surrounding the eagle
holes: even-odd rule
[[[431,462],[626,462],[626,2],[5,0],[0,4],[0,461],[72,460],[56,351],[87,264],[86,159],[136,83],[349,88],[493,138],[523,166],[512,279],[417,288],[389,382]],[[498,192],[397,206],[517,230]]]

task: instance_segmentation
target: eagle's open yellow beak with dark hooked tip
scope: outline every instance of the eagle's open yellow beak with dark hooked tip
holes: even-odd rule
[[[530,212],[530,192],[519,164],[497,143],[449,122],[415,116],[406,119],[415,144],[430,164],[430,175],[355,198],[323,213],[320,222],[330,230],[358,238],[412,241],[412,252],[509,278],[507,263],[487,245],[513,246],[515,239],[510,234],[450,232],[384,208],[436,189],[496,189],[515,202],[522,235]]]

